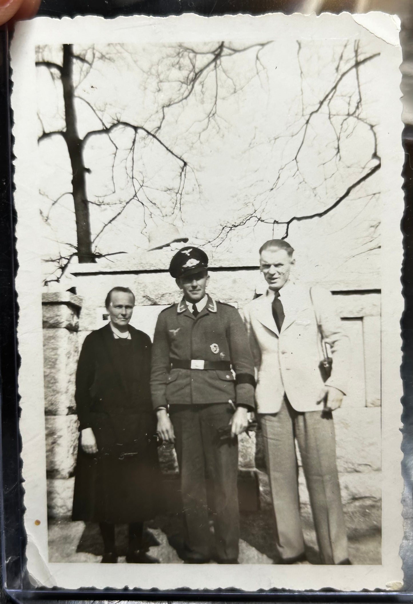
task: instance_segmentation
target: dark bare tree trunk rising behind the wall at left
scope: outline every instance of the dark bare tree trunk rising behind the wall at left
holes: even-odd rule
[[[76,217],[77,256],[79,263],[96,262],[92,252],[89,202],[86,198],[86,168],[83,164],[82,140],[77,133],[74,109],[73,45],[63,44],[63,100],[65,102],[65,141],[72,167],[74,214]]]

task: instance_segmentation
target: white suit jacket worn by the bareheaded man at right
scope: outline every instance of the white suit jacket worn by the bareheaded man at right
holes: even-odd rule
[[[317,404],[317,398],[324,386],[319,370],[324,357],[320,332],[333,358],[333,371],[326,385],[346,392],[350,359],[350,342],[331,294],[318,286],[311,288],[310,294],[308,286],[287,281],[280,290],[285,313],[281,332],[272,315],[273,298],[268,290],[241,313],[257,372],[257,411],[277,413],[284,393],[296,411],[320,410],[322,403]]]

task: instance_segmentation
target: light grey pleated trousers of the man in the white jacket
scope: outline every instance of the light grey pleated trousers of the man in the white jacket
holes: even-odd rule
[[[348,559],[347,536],[336,464],[333,415],[299,413],[287,397],[278,413],[262,414],[265,457],[276,519],[276,545],[282,559],[304,553],[295,439],[310,495],[322,564]]]

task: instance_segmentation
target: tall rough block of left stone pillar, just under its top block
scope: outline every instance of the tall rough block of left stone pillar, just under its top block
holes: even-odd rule
[[[45,413],[73,413],[78,358],[77,333],[67,329],[44,329],[43,350]]]

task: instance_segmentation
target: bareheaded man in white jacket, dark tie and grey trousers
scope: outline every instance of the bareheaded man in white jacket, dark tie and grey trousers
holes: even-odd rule
[[[279,564],[305,560],[295,439],[310,494],[322,564],[350,564],[332,411],[346,391],[349,342],[330,292],[290,280],[293,248],[279,239],[259,250],[267,292],[243,309],[258,370],[256,406],[276,518]],[[322,341],[331,347],[326,382]]]

